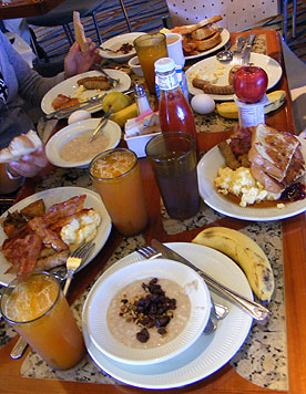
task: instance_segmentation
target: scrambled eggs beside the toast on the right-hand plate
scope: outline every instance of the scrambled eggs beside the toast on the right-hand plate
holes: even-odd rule
[[[232,193],[239,197],[241,207],[246,207],[247,205],[263,200],[273,201],[280,197],[280,194],[265,190],[264,186],[253,177],[249,168],[245,167],[237,169],[231,169],[228,167],[220,168],[217,177],[215,178],[215,187],[223,195]]]

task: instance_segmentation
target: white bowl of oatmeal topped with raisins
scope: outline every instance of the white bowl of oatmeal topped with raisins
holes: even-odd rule
[[[96,281],[83,308],[83,324],[106,356],[145,365],[191,346],[210,311],[210,291],[194,270],[167,259],[145,260]]]

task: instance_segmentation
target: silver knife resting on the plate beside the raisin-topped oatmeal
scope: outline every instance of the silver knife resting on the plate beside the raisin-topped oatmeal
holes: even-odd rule
[[[246,311],[248,314],[251,314],[252,318],[254,318],[255,320],[263,321],[268,317],[269,311],[266,308],[264,308],[263,305],[261,305],[257,302],[254,302],[254,301],[247,299],[244,296],[238,294],[234,290],[228,289],[226,286],[217,282],[215,279],[213,279],[207,273],[203,272],[200,268],[194,266],[191,261],[185,259],[183,256],[176,253],[176,251],[166,247],[162,242],[157,241],[156,239],[152,239],[151,245],[156,251],[161,252],[164,258],[180,261],[183,265],[194,269],[195,272],[197,272],[204,279],[204,281],[206,282],[206,284],[208,287],[218,291],[225,298],[227,298],[228,300],[231,300],[234,303],[236,303],[237,305],[239,305],[244,311]]]

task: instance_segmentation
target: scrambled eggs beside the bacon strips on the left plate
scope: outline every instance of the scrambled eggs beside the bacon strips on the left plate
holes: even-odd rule
[[[101,222],[100,214],[90,209],[86,214],[75,217],[61,229],[61,238],[69,246],[70,251],[74,250],[81,242],[89,241],[96,236],[96,229]]]

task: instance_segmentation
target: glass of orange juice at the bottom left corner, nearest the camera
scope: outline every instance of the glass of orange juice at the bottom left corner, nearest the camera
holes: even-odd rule
[[[83,336],[52,274],[30,272],[17,277],[0,305],[7,322],[52,369],[69,370],[83,359]]]

